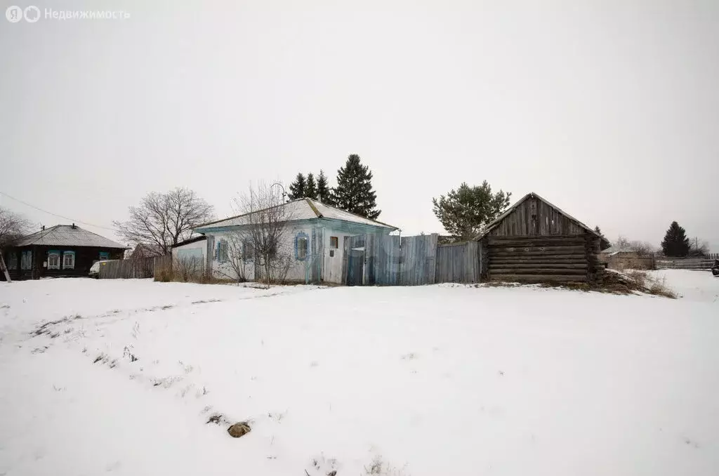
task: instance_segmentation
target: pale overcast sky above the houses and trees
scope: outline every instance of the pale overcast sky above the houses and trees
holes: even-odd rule
[[[186,186],[224,216],[250,180],[334,185],[357,153],[410,234],[488,180],[610,239],[677,220],[719,251],[718,1],[0,0],[30,4],[0,17],[0,191],[42,209],[111,226]]]

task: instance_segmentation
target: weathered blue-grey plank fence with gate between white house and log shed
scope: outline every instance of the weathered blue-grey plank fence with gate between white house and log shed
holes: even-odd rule
[[[366,234],[344,240],[343,283],[411,286],[479,283],[480,244],[437,244],[437,234],[393,237]]]

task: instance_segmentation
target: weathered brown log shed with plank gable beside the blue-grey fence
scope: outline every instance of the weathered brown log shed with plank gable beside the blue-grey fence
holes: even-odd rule
[[[610,246],[589,226],[528,193],[480,234],[482,280],[585,282],[602,280],[598,255]]]

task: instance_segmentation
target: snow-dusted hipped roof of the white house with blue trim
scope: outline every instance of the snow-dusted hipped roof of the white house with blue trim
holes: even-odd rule
[[[377,226],[379,228],[386,228],[390,230],[398,229],[396,226],[388,225],[386,223],[383,223],[381,221],[372,220],[365,218],[364,216],[359,216],[357,214],[353,214],[346,210],[340,210],[335,208],[334,206],[329,206],[326,203],[322,203],[321,201],[313,200],[312,198],[297,198],[296,200],[288,201],[286,203],[282,203],[281,205],[285,208],[284,214],[285,216],[288,216],[288,221],[298,221],[298,220],[309,220],[309,219],[331,219],[331,220],[340,220],[340,221],[347,221],[349,223],[355,223],[355,224],[361,224],[361,225],[367,225],[367,226]],[[264,209],[268,210],[268,209]],[[247,213],[247,214],[241,214],[237,216],[230,216],[226,219],[221,219],[217,221],[211,221],[206,224],[201,224],[195,227],[196,232],[202,232],[203,229],[212,229],[212,228],[219,228],[224,226],[242,226],[249,224],[248,218],[252,213],[259,213],[262,210],[258,210],[255,212]]]

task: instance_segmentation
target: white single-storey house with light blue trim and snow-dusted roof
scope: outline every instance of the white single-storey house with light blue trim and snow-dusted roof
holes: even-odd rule
[[[398,229],[311,198],[299,198],[280,206],[286,207],[283,216],[288,217],[284,233],[284,248],[291,250],[287,279],[295,282],[342,283],[345,237],[390,234]],[[229,263],[228,246],[232,235],[236,235],[243,226],[253,226],[248,224],[247,214],[203,224],[194,231],[205,235],[207,239],[188,245],[193,247],[192,253],[198,257],[198,249],[202,250],[203,262],[213,275],[237,279],[237,273]],[[261,271],[255,269],[257,263],[252,259],[252,253],[245,254],[248,259],[244,278],[254,280]]]

